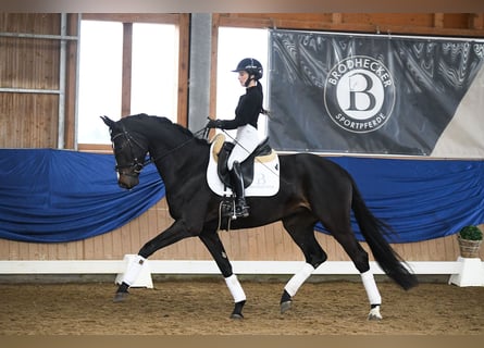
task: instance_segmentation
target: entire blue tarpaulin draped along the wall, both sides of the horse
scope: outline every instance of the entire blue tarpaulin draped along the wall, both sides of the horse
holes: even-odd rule
[[[373,213],[399,233],[395,241],[444,237],[484,222],[484,161],[328,159],[348,170]],[[0,238],[89,238],[126,224],[164,197],[154,165],[142,170],[132,190],[117,186],[114,165],[112,154],[0,150]],[[362,240],[355,222],[353,228]]]

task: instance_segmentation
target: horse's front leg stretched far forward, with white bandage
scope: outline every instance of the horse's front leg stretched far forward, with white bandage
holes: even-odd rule
[[[114,296],[114,302],[120,302],[126,299],[129,286],[138,278],[148,257],[161,248],[191,236],[193,234],[189,232],[189,228],[186,228],[184,221],[177,220],[164,232],[145,244],[136,258],[131,260],[127,264],[126,272],[124,272],[123,279]]]

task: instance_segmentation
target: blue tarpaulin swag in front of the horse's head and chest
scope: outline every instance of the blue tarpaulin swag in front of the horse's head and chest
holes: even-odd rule
[[[128,191],[112,154],[51,149],[0,150],[0,238],[73,241],[117,228],[164,196],[153,165]]]

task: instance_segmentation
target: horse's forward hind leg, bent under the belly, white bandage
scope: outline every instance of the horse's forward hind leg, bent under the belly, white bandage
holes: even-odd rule
[[[314,236],[315,222],[317,220],[309,212],[301,212],[283,219],[284,227],[301,249],[306,258],[306,263],[284,287],[283,296],[281,297],[281,313],[290,309],[293,297],[298,289],[309,278],[312,272],[327,259],[326,253]]]

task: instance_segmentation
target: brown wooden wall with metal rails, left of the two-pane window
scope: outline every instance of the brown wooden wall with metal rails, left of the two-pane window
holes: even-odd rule
[[[0,32],[59,35],[60,16],[0,14]],[[0,37],[0,87],[59,88],[60,42]],[[57,147],[59,95],[0,92],[0,147]]]

